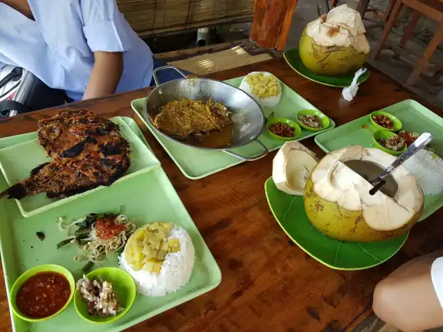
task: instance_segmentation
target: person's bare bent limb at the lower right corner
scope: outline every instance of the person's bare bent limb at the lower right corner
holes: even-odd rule
[[[379,282],[372,303],[374,313],[405,332],[443,326],[443,309],[431,278],[433,262],[442,256],[443,250],[439,250],[417,257]]]

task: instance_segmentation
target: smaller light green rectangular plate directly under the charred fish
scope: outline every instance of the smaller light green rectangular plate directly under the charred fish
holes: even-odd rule
[[[125,181],[128,178],[132,178],[138,174],[148,172],[150,169],[160,166],[160,162],[156,156],[152,154],[152,151],[136,136],[134,131],[132,131],[122,118],[116,117],[111,120],[120,126],[120,133],[129,141],[132,151],[131,167],[129,167],[125,176],[119,178],[116,182]],[[25,135],[26,136],[21,135],[20,138],[23,137],[28,139],[20,141],[19,144],[10,145],[0,149],[0,169],[8,185],[14,185],[17,182],[28,178],[31,169],[51,160],[51,158],[46,156],[46,151],[44,151],[44,149],[38,144],[37,132]],[[87,196],[92,192],[102,190],[103,188],[105,187],[98,187],[82,194],[58,200],[46,199],[46,194],[42,193],[35,196],[25,197],[24,199],[17,201],[17,205],[19,205],[21,213],[28,217],[74,201],[80,197]]]

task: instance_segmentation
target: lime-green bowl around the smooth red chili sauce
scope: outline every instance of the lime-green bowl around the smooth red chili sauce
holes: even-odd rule
[[[24,284],[24,282],[26,282],[30,277],[33,277],[33,275],[36,275],[39,272],[56,272],[56,273],[60,273],[61,275],[64,275],[64,277],[66,277],[66,279],[68,279],[69,286],[71,288],[71,295],[69,295],[68,301],[66,302],[66,304],[64,304],[64,306],[59,311],[57,311],[57,313],[55,313],[51,316],[48,316],[48,317],[44,317],[44,318],[31,318],[31,317],[28,317],[28,316],[24,315],[23,313],[21,313],[21,311],[19,310],[19,308],[17,306],[16,298],[17,298],[17,293],[19,292],[21,285]],[[69,270],[67,270],[66,268],[64,268],[63,266],[60,266],[60,265],[54,265],[54,264],[39,265],[39,266],[35,266],[34,268],[30,268],[15,281],[14,285],[11,288],[10,306],[12,308],[12,311],[14,311],[15,315],[20,317],[22,320],[26,320],[28,322],[43,322],[44,320],[49,320],[50,318],[55,317],[56,315],[58,315],[59,313],[64,311],[64,309],[66,309],[66,307],[69,305],[69,303],[71,303],[71,299],[73,298],[74,291],[75,291],[75,280],[74,280],[74,277],[72,276],[72,274],[69,272]]]

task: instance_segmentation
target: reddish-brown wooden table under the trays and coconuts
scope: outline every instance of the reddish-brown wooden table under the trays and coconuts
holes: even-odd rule
[[[212,75],[217,80],[269,71],[330,116],[337,125],[417,96],[375,70],[352,102],[341,89],[310,82],[284,60],[260,62]],[[332,270],[292,243],[275,222],[264,195],[274,154],[243,163],[199,181],[183,176],[150,132],[136,118],[130,102],[147,89],[73,104],[107,117],[131,116],[145,136],[213,252],[223,275],[214,291],[157,315],[128,331],[309,332],[350,331],[372,314],[374,286],[400,264],[435,250],[443,239],[443,209],[413,228],[405,246],[381,266],[362,271]],[[442,111],[431,107],[433,111]],[[46,110],[0,121],[0,137],[35,131]],[[314,140],[303,143],[318,155]],[[0,331],[12,331],[3,278],[0,285]]]

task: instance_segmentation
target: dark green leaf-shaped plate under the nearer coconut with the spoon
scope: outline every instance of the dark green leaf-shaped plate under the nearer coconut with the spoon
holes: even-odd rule
[[[269,208],[284,232],[302,250],[320,263],[336,270],[363,270],[382,264],[394,256],[408,238],[404,234],[390,241],[343,242],[327,237],[307,219],[302,196],[285,194],[272,178],[264,183]]]

